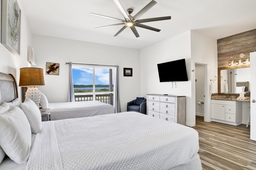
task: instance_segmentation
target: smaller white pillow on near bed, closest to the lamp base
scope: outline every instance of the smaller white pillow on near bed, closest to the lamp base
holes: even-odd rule
[[[35,102],[31,99],[26,99],[19,107],[25,113],[28,122],[30,122],[32,133],[40,133],[42,130],[42,116]]]

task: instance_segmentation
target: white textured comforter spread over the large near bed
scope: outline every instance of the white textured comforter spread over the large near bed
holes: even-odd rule
[[[123,112],[43,122],[27,169],[171,169],[198,150],[196,130]]]

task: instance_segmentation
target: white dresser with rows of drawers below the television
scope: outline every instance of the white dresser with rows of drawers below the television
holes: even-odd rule
[[[147,115],[185,125],[186,97],[176,95],[147,95]]]

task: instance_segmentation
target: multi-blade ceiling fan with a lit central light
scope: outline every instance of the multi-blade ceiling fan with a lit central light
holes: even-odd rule
[[[121,11],[124,20],[123,19],[118,19],[118,18],[113,18],[113,17],[110,17],[110,16],[94,14],[94,13],[90,13],[90,15],[100,16],[102,18],[117,20],[117,21],[121,22],[121,23],[118,23],[118,24],[105,25],[103,27],[97,27],[96,28],[96,29],[99,29],[99,28],[112,27],[112,26],[115,26],[115,25],[124,25],[114,36],[119,35],[119,33],[121,33],[126,27],[130,27],[131,31],[133,31],[133,33],[134,33],[134,35],[136,37],[139,37],[139,33],[137,32],[137,29],[135,27],[141,27],[141,28],[150,29],[152,31],[159,32],[159,31],[161,31],[160,29],[154,28],[154,27],[150,27],[148,25],[144,25],[144,24],[141,24],[141,23],[155,22],[155,21],[159,21],[159,20],[171,19],[171,16],[163,16],[163,17],[158,17],[158,18],[139,19],[143,14],[145,14],[148,10],[150,10],[151,7],[156,5],[156,2],[154,0],[152,0],[146,6],[144,6],[142,8],[142,10],[139,11],[134,16],[131,16],[131,13],[133,12],[132,8],[128,8],[126,10],[127,11],[126,12],[125,9],[122,7],[121,3],[118,0],[113,0],[113,1],[114,1],[115,5],[117,5],[119,11]]]

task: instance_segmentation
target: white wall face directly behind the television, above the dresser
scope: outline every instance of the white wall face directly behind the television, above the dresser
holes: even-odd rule
[[[170,94],[186,96],[186,124],[191,124],[191,120],[188,118],[191,114],[190,37],[191,33],[187,31],[141,50],[141,95]],[[171,82],[160,83],[157,64],[181,58],[185,58],[188,81],[177,82],[177,88],[172,88]]]

